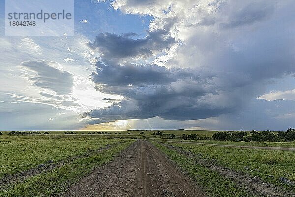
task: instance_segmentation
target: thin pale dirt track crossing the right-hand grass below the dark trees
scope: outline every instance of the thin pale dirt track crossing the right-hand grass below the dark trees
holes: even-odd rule
[[[208,144],[208,143],[183,142],[183,141],[167,141],[167,142],[171,142],[171,143],[184,143],[184,144],[201,144],[201,145],[209,145],[209,146],[223,146],[223,147],[232,147],[232,148],[251,148],[251,149],[268,149],[268,150],[295,151],[295,148],[288,148],[288,147],[271,147],[271,146],[239,146],[239,145]]]

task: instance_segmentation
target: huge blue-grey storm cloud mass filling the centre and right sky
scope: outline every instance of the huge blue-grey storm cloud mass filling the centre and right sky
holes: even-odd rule
[[[127,4],[130,2],[127,0]],[[274,15],[273,1],[253,2],[216,1],[213,14],[205,8],[195,10],[193,17],[189,12],[178,13],[187,18],[159,20],[165,30],[149,32],[143,39],[132,39],[132,34],[98,35],[89,45],[103,55],[91,77],[97,90],[124,99],[88,112],[95,118],[91,123],[155,116],[194,120],[235,114],[261,95],[269,80],[294,73],[294,31],[287,17],[287,13],[294,13],[294,6]],[[135,7],[144,13],[146,8],[140,4]],[[194,20],[195,15],[198,20]],[[187,38],[165,63],[169,69],[121,61],[148,57],[175,44],[175,39],[169,37],[174,24],[195,29],[183,31]]]

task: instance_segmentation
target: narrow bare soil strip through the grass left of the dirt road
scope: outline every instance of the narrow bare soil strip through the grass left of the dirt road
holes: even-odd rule
[[[118,142],[118,143],[120,143],[120,142]],[[65,160],[61,160],[57,163],[55,163],[54,161],[53,161],[53,163],[46,163],[45,167],[32,168],[32,169],[28,169],[28,170],[25,170],[25,171],[22,171],[22,172],[19,172],[16,174],[11,174],[11,175],[5,176],[2,179],[0,179],[0,189],[7,188],[14,183],[23,182],[24,180],[26,180],[27,178],[29,178],[31,176],[35,176],[35,175],[41,174],[43,172],[51,171],[51,170],[53,170],[57,167],[60,167],[62,165],[69,164],[78,158],[89,157],[89,155],[92,153],[97,153],[102,150],[109,149],[109,148],[115,146],[116,144],[117,143],[115,143],[113,145],[107,145],[106,147],[100,147],[98,150],[95,150],[93,152],[70,157]]]

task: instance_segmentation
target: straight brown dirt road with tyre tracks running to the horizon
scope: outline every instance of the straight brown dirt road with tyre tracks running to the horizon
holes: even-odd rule
[[[205,197],[148,141],[138,140],[63,197]]]

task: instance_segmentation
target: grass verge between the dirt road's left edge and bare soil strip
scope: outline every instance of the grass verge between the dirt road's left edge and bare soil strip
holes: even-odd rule
[[[126,140],[110,149],[94,153],[86,158],[78,158],[50,172],[30,177],[23,183],[15,184],[6,190],[0,190],[0,197],[52,197],[58,195],[98,166],[113,160],[120,151],[133,142],[134,140]]]

